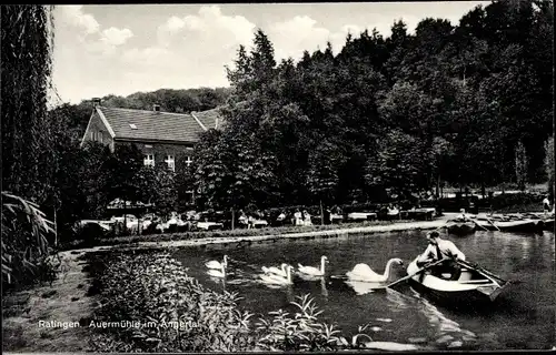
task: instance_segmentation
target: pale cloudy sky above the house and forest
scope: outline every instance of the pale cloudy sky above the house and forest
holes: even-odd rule
[[[385,38],[397,20],[413,32],[427,17],[458,24],[489,1],[234,4],[57,6],[52,81],[58,103],[158,89],[228,87],[240,44],[260,28],[277,61],[304,50],[341,50],[348,32],[376,28]]]

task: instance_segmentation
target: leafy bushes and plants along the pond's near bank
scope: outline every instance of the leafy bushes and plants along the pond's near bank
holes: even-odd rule
[[[296,304],[297,314],[280,310],[254,323],[238,310],[236,294],[206,290],[167,254],[97,254],[92,272],[102,304],[95,322],[150,322],[142,328],[97,328],[97,352],[334,351],[370,339],[358,334],[348,342],[318,323],[321,312],[307,296]]]

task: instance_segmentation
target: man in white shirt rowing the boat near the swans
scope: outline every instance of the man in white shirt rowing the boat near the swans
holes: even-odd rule
[[[428,233],[427,240],[428,246],[417,258],[417,266],[423,267],[444,258],[443,263],[431,268],[431,274],[440,278],[445,278],[443,274],[450,274],[448,280],[459,280],[461,268],[457,261],[465,261],[465,254],[453,242],[440,239],[440,234],[436,231]],[[421,275],[424,276],[424,273]]]

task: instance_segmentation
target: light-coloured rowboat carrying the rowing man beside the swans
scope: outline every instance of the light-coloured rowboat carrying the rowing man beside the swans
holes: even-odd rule
[[[465,262],[461,265],[461,275],[457,281],[445,280],[431,275],[430,271],[425,271],[410,277],[411,285],[416,291],[437,301],[457,306],[493,303],[510,284],[483,268],[475,268]],[[407,273],[411,275],[418,271],[415,258],[407,266]]]

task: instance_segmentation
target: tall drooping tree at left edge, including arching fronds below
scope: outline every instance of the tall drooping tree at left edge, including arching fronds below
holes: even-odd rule
[[[2,278],[16,286],[52,280],[56,270],[49,262],[52,223],[40,207],[54,196],[47,113],[51,20],[50,7],[1,9]],[[9,288],[3,285],[2,292]]]

